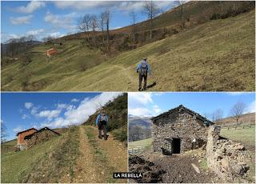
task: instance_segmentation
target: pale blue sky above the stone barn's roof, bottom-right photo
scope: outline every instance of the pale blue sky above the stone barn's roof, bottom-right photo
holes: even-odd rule
[[[246,112],[255,112],[254,93],[129,93],[128,113],[136,116],[155,116],[179,105],[199,114],[212,114],[221,109],[230,116],[236,102],[246,104]]]

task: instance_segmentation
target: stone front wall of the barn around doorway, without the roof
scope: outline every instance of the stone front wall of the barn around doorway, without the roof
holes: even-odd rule
[[[193,149],[193,139],[196,140],[194,148],[206,146],[207,127],[202,120],[185,110],[175,110],[165,117],[154,120],[152,137],[153,150],[156,152],[162,152],[162,149],[172,152],[173,138],[181,139],[181,152],[184,152]]]

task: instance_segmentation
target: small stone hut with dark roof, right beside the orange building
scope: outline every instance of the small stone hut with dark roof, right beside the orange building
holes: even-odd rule
[[[51,130],[48,127],[44,127],[36,132],[34,134],[27,135],[24,139],[26,142],[26,149],[30,149],[34,145],[38,144],[39,142],[50,140],[50,138],[53,138],[54,136],[58,136],[58,132]]]

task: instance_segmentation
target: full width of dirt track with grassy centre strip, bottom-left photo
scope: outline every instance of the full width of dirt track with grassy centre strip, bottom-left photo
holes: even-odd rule
[[[98,138],[94,126],[80,126],[79,140],[81,156],[77,160],[72,182],[126,182],[113,179],[113,172],[127,171],[127,150],[121,142]]]

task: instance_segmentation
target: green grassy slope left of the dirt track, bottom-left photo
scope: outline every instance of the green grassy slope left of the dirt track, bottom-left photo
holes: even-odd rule
[[[61,182],[66,174],[72,176],[78,154],[78,127],[74,126],[30,150],[2,152],[1,182]]]

